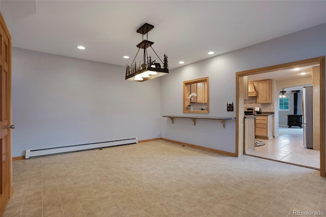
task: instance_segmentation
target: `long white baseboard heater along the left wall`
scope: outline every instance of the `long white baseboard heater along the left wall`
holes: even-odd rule
[[[138,138],[131,138],[131,139],[114,140],[114,141],[106,141],[106,142],[87,143],[87,144],[80,144],[80,145],[61,146],[55,148],[26,150],[25,159],[31,157],[40,157],[45,155],[61,154],[66,152],[83,151],[83,150],[90,150],[90,149],[97,149],[97,148],[105,148],[110,146],[137,144],[137,143],[138,143]]]

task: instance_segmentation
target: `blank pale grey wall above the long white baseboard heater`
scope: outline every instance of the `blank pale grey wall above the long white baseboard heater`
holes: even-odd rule
[[[125,68],[12,49],[13,156],[26,149],[160,137],[160,82]]]

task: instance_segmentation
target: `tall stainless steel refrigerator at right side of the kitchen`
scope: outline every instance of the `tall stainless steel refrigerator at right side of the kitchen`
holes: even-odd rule
[[[304,129],[304,147],[313,148],[313,107],[312,107],[312,86],[304,87],[302,94],[302,126]]]

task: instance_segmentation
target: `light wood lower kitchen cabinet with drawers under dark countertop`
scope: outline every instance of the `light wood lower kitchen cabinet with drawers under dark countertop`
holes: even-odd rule
[[[265,140],[273,138],[273,116],[256,116],[256,138]]]

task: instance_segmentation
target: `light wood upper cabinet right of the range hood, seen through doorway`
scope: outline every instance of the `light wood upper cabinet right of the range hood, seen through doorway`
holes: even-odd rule
[[[270,104],[272,103],[272,84],[271,79],[257,80],[258,94],[257,103]]]

